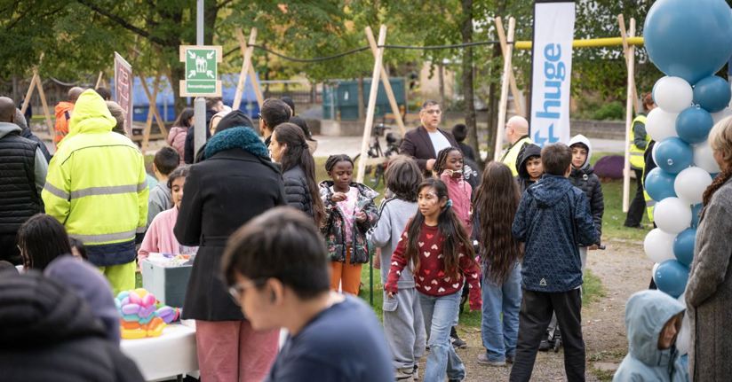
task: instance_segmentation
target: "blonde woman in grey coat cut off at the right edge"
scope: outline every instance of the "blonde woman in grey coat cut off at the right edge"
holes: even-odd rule
[[[688,277],[691,327],[689,372],[693,380],[727,380],[732,375],[732,336],[724,325],[732,316],[732,118],[709,133],[714,159],[722,170],[704,191],[704,209],[696,233],[694,262]]]

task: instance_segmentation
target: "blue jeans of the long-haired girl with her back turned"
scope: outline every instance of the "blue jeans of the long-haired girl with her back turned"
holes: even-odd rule
[[[481,337],[489,361],[505,361],[516,353],[521,310],[521,264],[508,271],[503,285],[497,285],[483,270],[483,315]],[[503,320],[501,320],[503,313]]]

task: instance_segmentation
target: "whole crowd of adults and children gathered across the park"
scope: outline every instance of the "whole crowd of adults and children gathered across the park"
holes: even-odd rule
[[[510,380],[528,381],[537,351],[561,344],[567,378],[585,380],[583,276],[588,250],[601,246],[604,211],[585,136],[541,148],[515,116],[505,125],[505,154],[479,173],[465,126],[455,136],[440,129],[442,108],[427,101],[421,125],[388,163],[378,205],[377,191],[354,182],[346,154],[325,161],[330,179],[318,183],[316,142],[291,100],[267,99],[255,125],[211,98],[206,144],[195,151],[193,113],[184,110],[170,146],[155,153],[151,187],[142,153],[121,129],[121,108],[103,93],[69,91],[57,107],[50,161],[12,99],[0,97],[0,205],[12,211],[0,214],[2,260],[10,262],[0,269],[0,369],[12,370],[10,379],[43,375],[26,370],[25,357],[56,364],[69,348],[102,357],[94,370],[101,379],[141,378],[119,351],[112,296],[135,288],[149,253],[173,253],[195,254],[180,285],[182,318],[195,320],[205,381],[465,380],[456,352],[465,346],[456,331],[465,300],[481,310],[478,363],[513,363]],[[732,162],[729,120],[710,142],[720,164]],[[689,278],[697,319],[721,319],[728,300],[704,280],[728,280],[727,267],[712,274],[704,263],[729,257],[718,238],[728,193],[717,191],[732,169],[722,168],[705,195],[706,244]],[[354,298],[371,256],[384,287],[383,324]],[[683,307],[658,293],[628,302],[631,350],[618,376],[648,367],[660,379],[688,379],[673,347]],[[57,321],[40,318],[48,315]],[[34,329],[39,323],[44,330]],[[281,329],[289,333],[282,347]],[[700,342],[695,350],[710,351]],[[662,357],[681,366],[664,374],[653,364]],[[699,369],[704,359],[691,360],[699,375],[712,373]],[[69,375],[91,367],[67,366]]]

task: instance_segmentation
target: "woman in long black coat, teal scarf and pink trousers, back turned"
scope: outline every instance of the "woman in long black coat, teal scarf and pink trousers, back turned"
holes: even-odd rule
[[[183,318],[196,320],[203,380],[259,381],[277,352],[277,331],[254,332],[227,292],[220,260],[227,239],[252,217],[285,203],[282,175],[259,136],[243,124],[229,128],[229,113],[190,168],[173,232],[180,244],[199,246],[188,282]],[[228,129],[222,129],[228,128]]]

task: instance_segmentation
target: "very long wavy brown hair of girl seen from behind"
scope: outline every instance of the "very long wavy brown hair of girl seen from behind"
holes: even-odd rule
[[[521,260],[521,243],[511,233],[521,193],[511,169],[492,161],[483,172],[475,194],[473,211],[480,217],[481,259],[486,277],[498,285],[505,281],[516,261]]]

